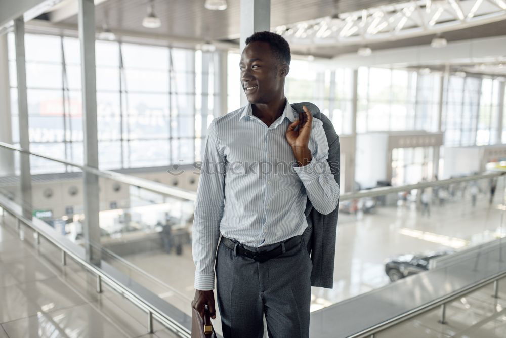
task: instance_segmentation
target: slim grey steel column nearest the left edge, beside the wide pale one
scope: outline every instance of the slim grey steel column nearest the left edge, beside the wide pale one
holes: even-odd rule
[[[22,16],[14,20],[14,38],[18,80],[19,144],[21,148],[30,151],[28,102],[26,98],[25,21]],[[31,219],[32,188],[30,155],[21,153],[19,159],[21,169],[21,199],[23,201],[22,212],[24,217]]]

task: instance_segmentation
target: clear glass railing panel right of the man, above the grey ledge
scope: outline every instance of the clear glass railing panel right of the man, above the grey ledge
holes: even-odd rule
[[[451,183],[420,182],[422,186],[440,184],[426,188],[412,185],[343,194],[334,287],[313,288],[312,309],[425,271],[429,268],[427,262],[437,255],[504,236],[498,207],[504,203],[504,176],[485,176],[447,181]],[[404,261],[417,264],[399,271],[397,266]]]

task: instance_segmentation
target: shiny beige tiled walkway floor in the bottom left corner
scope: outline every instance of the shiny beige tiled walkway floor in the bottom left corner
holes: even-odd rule
[[[60,252],[31,235],[0,224],[0,338],[175,337],[159,324],[146,334],[142,310],[106,285],[97,293],[94,276],[70,259],[61,267]]]

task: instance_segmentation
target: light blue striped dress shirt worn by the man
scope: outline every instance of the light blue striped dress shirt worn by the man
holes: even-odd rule
[[[335,210],[339,185],[327,162],[323,123],[313,118],[313,158],[297,166],[285,135],[298,118],[286,100],[283,115],[269,127],[252,114],[249,103],[209,124],[192,230],[195,289],[214,289],[220,233],[259,247],[301,235],[308,226],[308,198],[322,214]]]

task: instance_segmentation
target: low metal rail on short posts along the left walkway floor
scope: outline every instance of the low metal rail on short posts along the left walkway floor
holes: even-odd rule
[[[158,319],[161,323],[163,323],[166,327],[172,329],[179,336],[190,338],[191,332],[180,323],[178,323],[173,318],[169,317],[163,310],[158,308],[155,304],[150,303],[145,300],[141,295],[137,294],[131,288],[124,286],[120,281],[116,278],[110,276],[108,273],[103,271],[101,268],[95,266],[91,262],[81,258],[77,252],[71,250],[66,247],[63,243],[61,243],[55,236],[55,234],[51,234],[46,232],[41,227],[35,225],[32,220],[27,219],[26,217],[17,213],[13,207],[7,205],[7,201],[4,200],[2,202],[2,198],[0,197],[0,206],[2,209],[12,215],[17,220],[18,229],[20,229],[21,224],[25,224],[26,226],[33,229],[36,234],[36,243],[40,243],[40,236],[43,236],[51,242],[53,245],[58,247],[62,252],[62,265],[66,265],[66,257],[69,256],[77,263],[85,267],[87,270],[91,271],[97,276],[97,292],[102,292],[102,282],[105,282],[111,288],[116,290],[117,292],[124,295],[125,298],[128,298],[132,303],[137,305],[142,310],[146,311],[148,314],[148,333],[153,333],[153,318]],[[37,219],[35,219],[37,220]],[[43,221],[40,221],[43,223]],[[46,225],[46,224],[45,224]],[[161,299],[160,299],[161,300]]]

